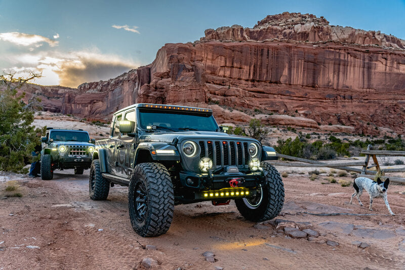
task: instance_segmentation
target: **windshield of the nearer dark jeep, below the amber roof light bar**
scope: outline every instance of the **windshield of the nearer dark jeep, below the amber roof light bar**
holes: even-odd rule
[[[147,126],[161,127],[161,130],[201,130],[216,131],[218,125],[212,114],[190,114],[179,112],[161,112],[161,111],[140,111],[140,126],[147,129]]]

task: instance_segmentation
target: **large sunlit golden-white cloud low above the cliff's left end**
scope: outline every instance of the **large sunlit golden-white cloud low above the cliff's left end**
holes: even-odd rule
[[[116,55],[102,54],[97,48],[88,51],[61,53],[42,51],[14,55],[9,60],[15,67],[8,72],[42,72],[33,83],[77,87],[86,82],[108,80],[140,64]]]

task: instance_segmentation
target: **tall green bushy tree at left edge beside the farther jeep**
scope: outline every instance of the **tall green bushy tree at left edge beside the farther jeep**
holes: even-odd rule
[[[35,145],[39,144],[37,133],[44,130],[31,126],[34,111],[41,109],[37,97],[23,102],[25,94],[17,95],[17,90],[28,81],[40,75],[31,73],[28,78],[14,78],[14,74],[0,75],[0,171],[26,173],[24,157],[31,156]]]

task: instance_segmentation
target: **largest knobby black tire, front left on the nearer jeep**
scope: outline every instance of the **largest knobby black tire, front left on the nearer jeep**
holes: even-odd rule
[[[143,186],[144,217],[139,217],[135,204],[137,190]],[[132,227],[142,237],[165,234],[173,220],[173,183],[165,166],[159,163],[138,164],[131,177],[128,191],[128,208]]]

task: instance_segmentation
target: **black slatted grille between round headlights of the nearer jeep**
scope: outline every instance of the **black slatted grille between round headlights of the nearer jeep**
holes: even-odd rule
[[[242,166],[249,164],[248,142],[241,141],[198,141],[201,148],[200,158],[209,157],[214,168],[223,166]]]

